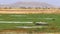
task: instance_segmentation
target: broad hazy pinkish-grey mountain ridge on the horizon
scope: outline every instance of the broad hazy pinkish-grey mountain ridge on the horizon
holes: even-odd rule
[[[10,5],[1,5],[0,7],[11,7],[11,8],[57,8],[56,6],[53,6],[51,4],[45,3],[45,2],[16,2]]]

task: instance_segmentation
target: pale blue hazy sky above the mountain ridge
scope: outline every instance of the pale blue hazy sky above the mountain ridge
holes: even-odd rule
[[[0,0],[0,4],[11,4],[15,2],[46,2],[48,4],[60,6],[60,0]]]

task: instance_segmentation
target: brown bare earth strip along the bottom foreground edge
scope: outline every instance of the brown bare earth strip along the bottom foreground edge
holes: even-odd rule
[[[28,30],[3,30],[0,32],[0,34],[60,34],[58,32],[56,33],[43,33],[43,32],[29,32]]]

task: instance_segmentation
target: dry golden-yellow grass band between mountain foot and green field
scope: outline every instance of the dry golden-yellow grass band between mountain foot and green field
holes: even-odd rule
[[[38,13],[46,13],[46,14],[58,14],[60,13],[59,9],[0,9],[0,13],[2,14],[38,14]]]

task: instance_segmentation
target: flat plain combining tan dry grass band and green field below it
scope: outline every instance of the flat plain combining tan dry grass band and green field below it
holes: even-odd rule
[[[36,26],[34,22],[46,22],[49,24],[47,27],[32,28],[28,30],[39,32],[60,32],[59,12],[59,9],[0,9],[0,30],[20,29],[16,28],[16,26],[32,27]]]

